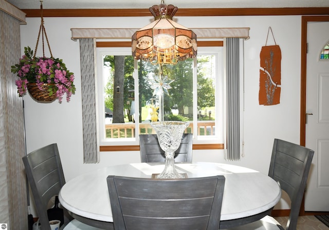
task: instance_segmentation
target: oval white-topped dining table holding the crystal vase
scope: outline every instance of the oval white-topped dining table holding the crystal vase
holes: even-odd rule
[[[92,226],[113,229],[107,176],[152,178],[152,174],[161,173],[164,167],[164,163],[131,163],[85,173],[64,184],[59,200],[74,218]],[[218,217],[221,219],[220,229],[250,223],[269,215],[281,198],[279,184],[252,169],[213,162],[175,163],[175,168],[179,173],[186,173],[188,178],[225,176],[222,212]]]

